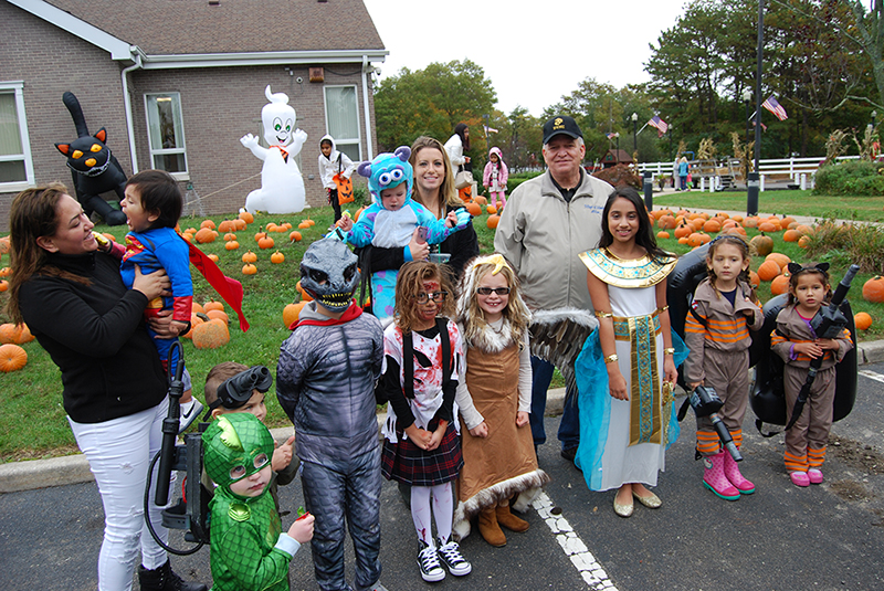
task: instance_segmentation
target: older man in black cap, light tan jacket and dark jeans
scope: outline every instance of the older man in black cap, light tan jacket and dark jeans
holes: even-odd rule
[[[598,246],[601,213],[613,187],[583,170],[585,155],[583,134],[577,122],[566,115],[546,122],[547,171],[519,184],[501,215],[494,249],[518,274],[532,310],[592,310],[587,271],[578,255]],[[554,366],[532,357],[532,370],[530,423],[536,447],[546,442],[544,411]],[[566,405],[558,439],[562,457],[573,461],[580,442],[576,405]]]

